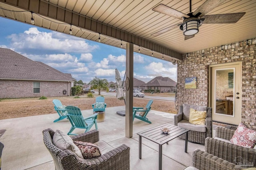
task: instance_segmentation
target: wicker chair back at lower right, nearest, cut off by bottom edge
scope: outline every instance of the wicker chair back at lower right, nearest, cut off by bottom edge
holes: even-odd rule
[[[231,162],[228,162],[222,158],[218,158],[217,156],[204,152],[200,149],[196,149],[193,151],[192,166],[194,168],[198,168],[199,170],[242,170],[244,169],[242,166],[235,165]]]

